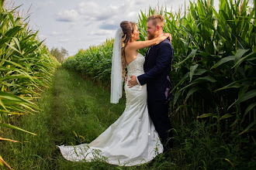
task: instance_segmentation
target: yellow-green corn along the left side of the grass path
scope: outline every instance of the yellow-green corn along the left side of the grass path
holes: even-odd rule
[[[1,0],[0,12],[0,142],[19,142],[4,138],[5,128],[25,131],[12,122],[17,115],[36,113],[36,98],[50,86],[58,62],[17,8],[9,11]],[[10,168],[1,156],[0,165]]]

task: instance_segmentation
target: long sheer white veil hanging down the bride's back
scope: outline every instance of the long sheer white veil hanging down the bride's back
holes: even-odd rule
[[[123,79],[122,79],[122,28],[116,30],[116,36],[112,51],[112,70],[111,70],[111,95],[110,103],[116,104],[122,97],[123,93]]]

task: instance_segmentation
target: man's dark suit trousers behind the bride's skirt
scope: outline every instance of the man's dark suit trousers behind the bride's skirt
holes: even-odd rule
[[[170,102],[164,100],[147,100],[148,113],[165,150],[173,146],[171,121],[168,117],[169,104]]]

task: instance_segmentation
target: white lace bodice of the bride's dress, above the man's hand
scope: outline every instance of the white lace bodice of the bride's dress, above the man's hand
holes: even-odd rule
[[[138,53],[136,59],[134,59],[127,66],[128,75],[139,76],[141,74],[144,74],[144,62],[145,62],[145,57],[142,54]]]

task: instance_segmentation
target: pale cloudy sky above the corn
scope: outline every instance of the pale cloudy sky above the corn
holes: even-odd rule
[[[218,2],[214,0],[216,7]],[[98,46],[113,38],[120,22],[137,22],[140,10],[147,12],[149,7],[163,5],[168,12],[177,12],[189,5],[189,0],[5,0],[5,3],[7,8],[22,5],[19,12],[23,17],[30,15],[30,29],[39,30],[39,39],[45,39],[49,49],[64,47],[73,56],[79,49]]]

